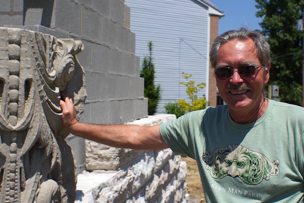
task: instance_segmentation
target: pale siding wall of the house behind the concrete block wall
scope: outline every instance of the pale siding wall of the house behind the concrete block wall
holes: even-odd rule
[[[200,95],[208,100],[210,15],[223,13],[210,1],[200,0],[125,0],[131,10],[131,31],[136,34],[136,55],[148,55],[147,44],[154,44],[153,56],[156,84],[161,85],[164,105],[187,99],[182,72],[192,74],[191,80],[206,83]]]

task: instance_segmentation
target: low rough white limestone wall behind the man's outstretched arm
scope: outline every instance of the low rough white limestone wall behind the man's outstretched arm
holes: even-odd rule
[[[126,124],[157,125],[175,115]],[[132,150],[86,141],[87,170],[78,175],[75,202],[186,202],[186,163],[171,149]]]

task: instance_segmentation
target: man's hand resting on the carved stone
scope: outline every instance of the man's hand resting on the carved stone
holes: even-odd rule
[[[59,105],[62,109],[62,124],[67,131],[70,131],[72,126],[78,121],[76,120],[76,110],[71,97],[65,93],[61,92],[61,100]]]

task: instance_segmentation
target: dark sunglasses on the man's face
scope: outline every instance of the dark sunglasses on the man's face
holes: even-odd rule
[[[228,79],[233,75],[234,70],[237,70],[240,77],[248,78],[252,77],[255,74],[255,70],[263,66],[254,66],[254,65],[241,65],[238,69],[231,69],[230,67],[219,67],[214,70],[214,73],[218,79],[224,80]]]

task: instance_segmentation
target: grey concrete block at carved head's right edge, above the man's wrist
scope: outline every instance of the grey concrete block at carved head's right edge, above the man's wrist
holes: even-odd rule
[[[86,73],[86,90],[87,90],[87,100],[100,99],[100,84],[101,78],[100,73],[93,73],[91,71],[85,71]]]

